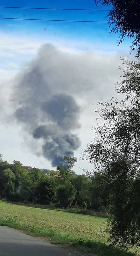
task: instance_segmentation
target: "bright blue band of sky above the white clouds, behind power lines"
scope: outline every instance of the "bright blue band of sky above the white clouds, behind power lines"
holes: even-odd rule
[[[1,1],[1,6],[46,7],[46,8],[79,8],[79,9],[108,9],[105,6],[96,7],[93,0],[75,1]],[[111,8],[111,7],[109,7]],[[31,18],[31,19],[60,19],[60,20],[97,20],[107,21],[108,12],[97,11],[64,11],[64,10],[31,10],[31,9],[0,9],[1,17]],[[1,31],[9,34],[39,37],[65,38],[86,43],[113,44],[116,46],[118,36],[110,35],[106,23],[74,23],[53,21],[0,20]],[[87,45],[90,48],[90,46]],[[80,45],[79,45],[80,48]]]

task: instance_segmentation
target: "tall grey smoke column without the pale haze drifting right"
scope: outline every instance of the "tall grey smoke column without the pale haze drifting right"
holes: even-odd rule
[[[66,81],[64,85],[64,77],[54,79],[58,73],[67,75],[64,72],[68,58],[63,55],[50,44],[43,46],[38,56],[17,76],[13,96],[14,116],[32,140],[41,141],[42,155],[53,167],[62,164],[64,156],[74,156],[74,151],[81,146],[79,136],[73,133],[81,125],[78,121],[80,107],[67,90],[71,83]],[[63,72],[56,62],[63,63]],[[72,68],[71,60],[69,68]],[[71,73],[67,68],[66,72]]]

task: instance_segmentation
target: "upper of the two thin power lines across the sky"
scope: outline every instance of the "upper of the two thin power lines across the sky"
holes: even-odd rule
[[[109,12],[112,10],[105,9],[69,9],[69,8],[41,8],[41,7],[17,7],[17,6],[0,6],[0,8],[12,8],[12,9],[36,9],[36,10],[64,10],[64,11],[105,11]]]

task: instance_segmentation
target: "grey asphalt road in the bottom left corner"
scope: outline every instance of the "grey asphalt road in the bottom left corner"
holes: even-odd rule
[[[0,255],[2,256],[78,256],[58,245],[28,236],[13,228],[0,226]]]

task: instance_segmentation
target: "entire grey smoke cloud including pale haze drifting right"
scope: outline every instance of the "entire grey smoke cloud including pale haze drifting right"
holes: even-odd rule
[[[65,155],[74,156],[81,146],[81,111],[99,100],[97,96],[108,94],[108,84],[112,86],[118,76],[113,73],[118,60],[92,52],[66,53],[52,44],[39,49],[16,76],[12,96],[14,117],[32,153],[43,155],[53,167]],[[114,92],[114,87],[110,90]]]

